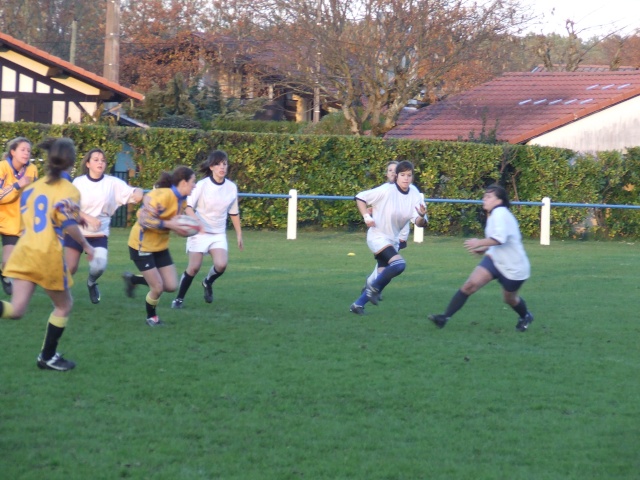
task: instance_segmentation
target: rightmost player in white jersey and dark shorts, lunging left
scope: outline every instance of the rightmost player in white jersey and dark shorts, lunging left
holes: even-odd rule
[[[478,255],[484,255],[480,264],[471,272],[467,281],[458,290],[447,310],[440,315],[429,315],[438,328],[447,324],[453,316],[474,294],[490,281],[497,279],[502,285],[502,297],[518,314],[516,330],[526,332],[533,322],[533,315],[527,310],[527,304],[518,291],[529,278],[530,265],[522,246],[522,235],[516,217],[509,211],[509,197],[504,188],[491,185],[482,197],[482,208],[489,218],[484,229],[485,238],[470,238],[464,242],[465,248]]]

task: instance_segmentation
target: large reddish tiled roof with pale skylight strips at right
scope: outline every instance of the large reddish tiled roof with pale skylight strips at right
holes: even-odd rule
[[[505,73],[415,113],[405,110],[387,138],[496,139],[526,143],[640,95],[640,71]]]

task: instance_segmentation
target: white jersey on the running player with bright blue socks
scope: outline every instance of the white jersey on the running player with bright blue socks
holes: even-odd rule
[[[395,183],[385,183],[372,190],[366,190],[356,195],[373,207],[371,216],[375,226],[367,232],[367,244],[375,253],[380,245],[393,245],[398,249],[400,233],[407,222],[416,222],[419,213],[416,208],[422,203],[422,195],[414,185],[403,192]]]

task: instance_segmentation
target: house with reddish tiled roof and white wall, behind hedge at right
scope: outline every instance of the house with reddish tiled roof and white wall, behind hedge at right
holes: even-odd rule
[[[505,73],[422,109],[405,109],[385,137],[484,137],[581,152],[640,146],[640,71]]]

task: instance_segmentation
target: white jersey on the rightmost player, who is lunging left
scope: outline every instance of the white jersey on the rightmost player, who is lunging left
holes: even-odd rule
[[[502,275],[509,280],[529,278],[531,266],[522,245],[518,220],[508,208],[500,206],[491,211],[484,234],[500,242],[500,245],[489,247],[486,254]]]

